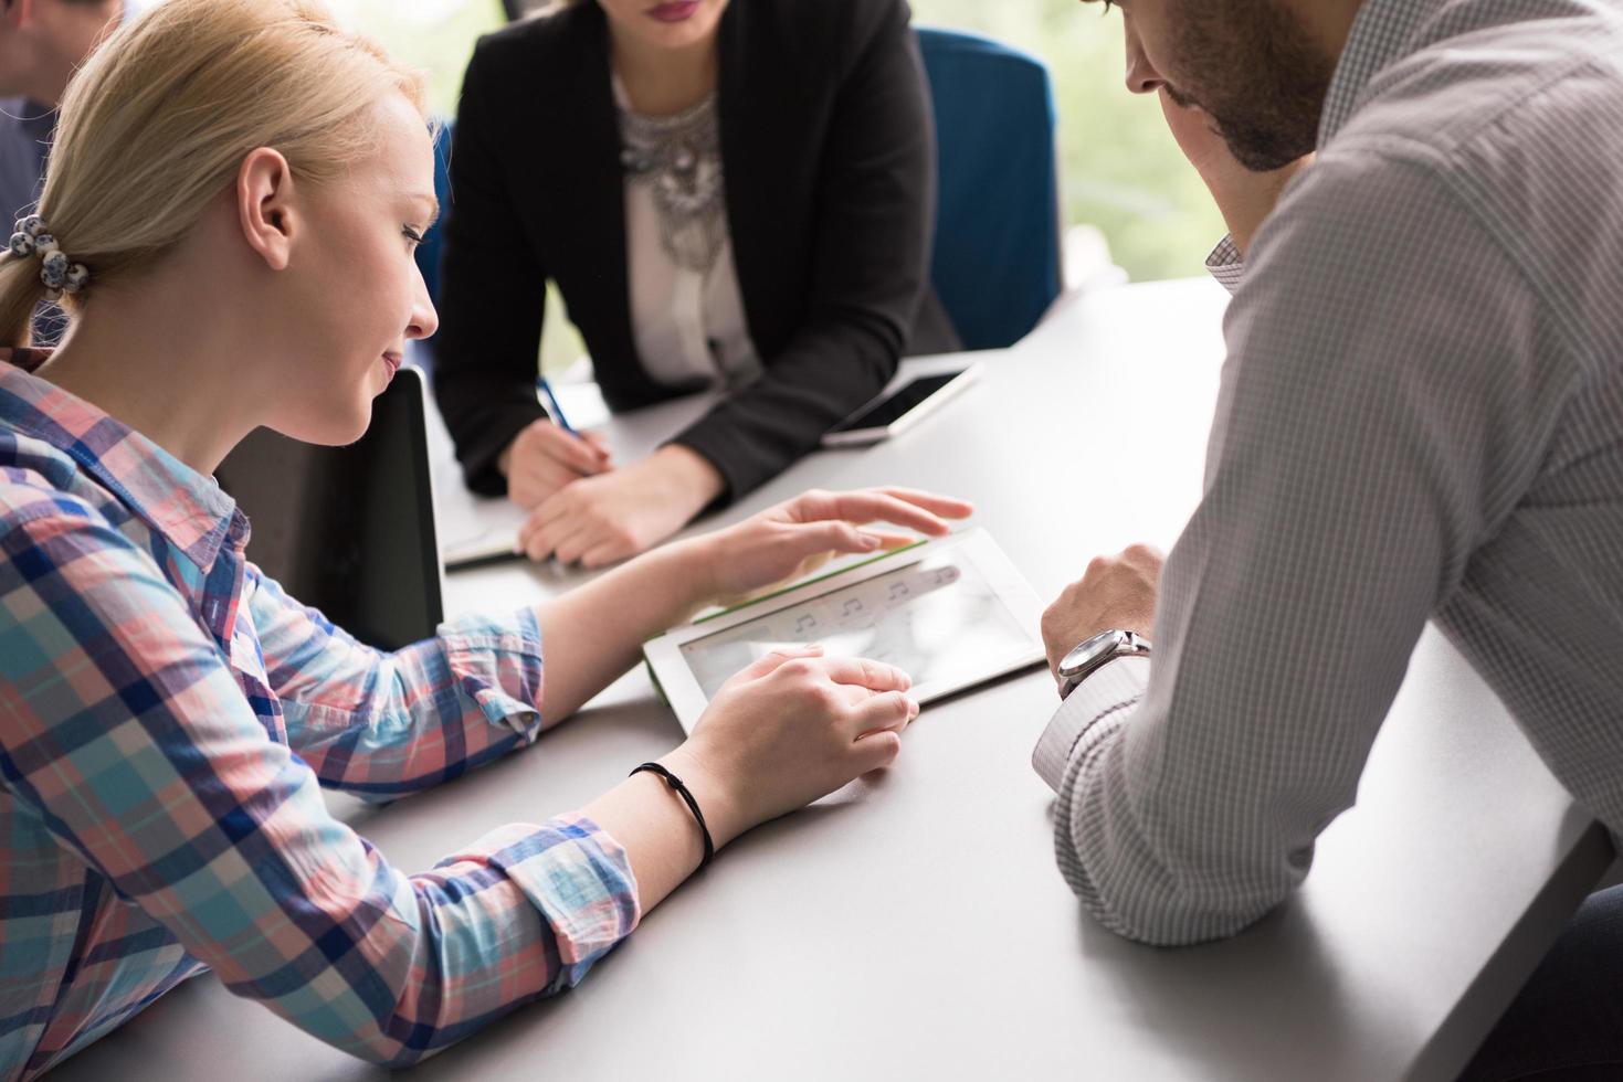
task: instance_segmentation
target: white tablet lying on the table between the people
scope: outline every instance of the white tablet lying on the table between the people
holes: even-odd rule
[[[992,535],[974,529],[812,579],[675,628],[643,647],[683,732],[738,670],[821,646],[912,676],[920,704],[1045,659],[1042,602]]]

